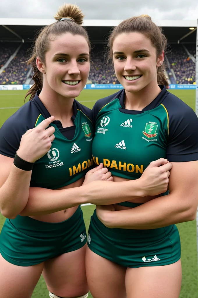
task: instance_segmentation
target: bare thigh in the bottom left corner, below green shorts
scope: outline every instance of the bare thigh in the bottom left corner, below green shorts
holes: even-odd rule
[[[43,270],[43,263],[16,266],[0,254],[0,291],[4,298],[30,298]]]

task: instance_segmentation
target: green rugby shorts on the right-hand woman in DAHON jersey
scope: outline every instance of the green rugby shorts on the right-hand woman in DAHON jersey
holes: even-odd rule
[[[130,268],[169,265],[181,255],[175,225],[150,230],[110,229],[98,219],[96,210],[91,217],[88,246],[96,254]]]

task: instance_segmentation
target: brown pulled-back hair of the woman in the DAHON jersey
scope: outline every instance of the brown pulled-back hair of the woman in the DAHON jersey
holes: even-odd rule
[[[115,38],[122,33],[139,32],[150,39],[152,45],[156,48],[157,57],[166,49],[167,40],[162,33],[162,29],[151,20],[149,15],[139,15],[128,18],[115,27],[108,40],[108,58],[113,59],[112,45]],[[168,81],[164,74],[164,63],[157,69],[157,83],[168,87]]]

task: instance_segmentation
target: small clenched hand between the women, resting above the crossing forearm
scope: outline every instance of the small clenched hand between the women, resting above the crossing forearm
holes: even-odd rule
[[[111,176],[111,172],[108,171],[106,167],[103,167],[103,164],[99,164],[99,166],[89,170],[89,172],[85,175],[85,180],[83,185],[92,182],[92,181],[113,181],[113,177]]]

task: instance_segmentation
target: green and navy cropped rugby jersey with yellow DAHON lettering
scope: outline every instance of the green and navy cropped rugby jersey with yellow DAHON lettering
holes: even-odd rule
[[[93,159],[112,175],[138,179],[151,161],[198,160],[198,119],[182,100],[160,86],[142,111],[126,110],[124,89],[98,100],[93,108]]]

